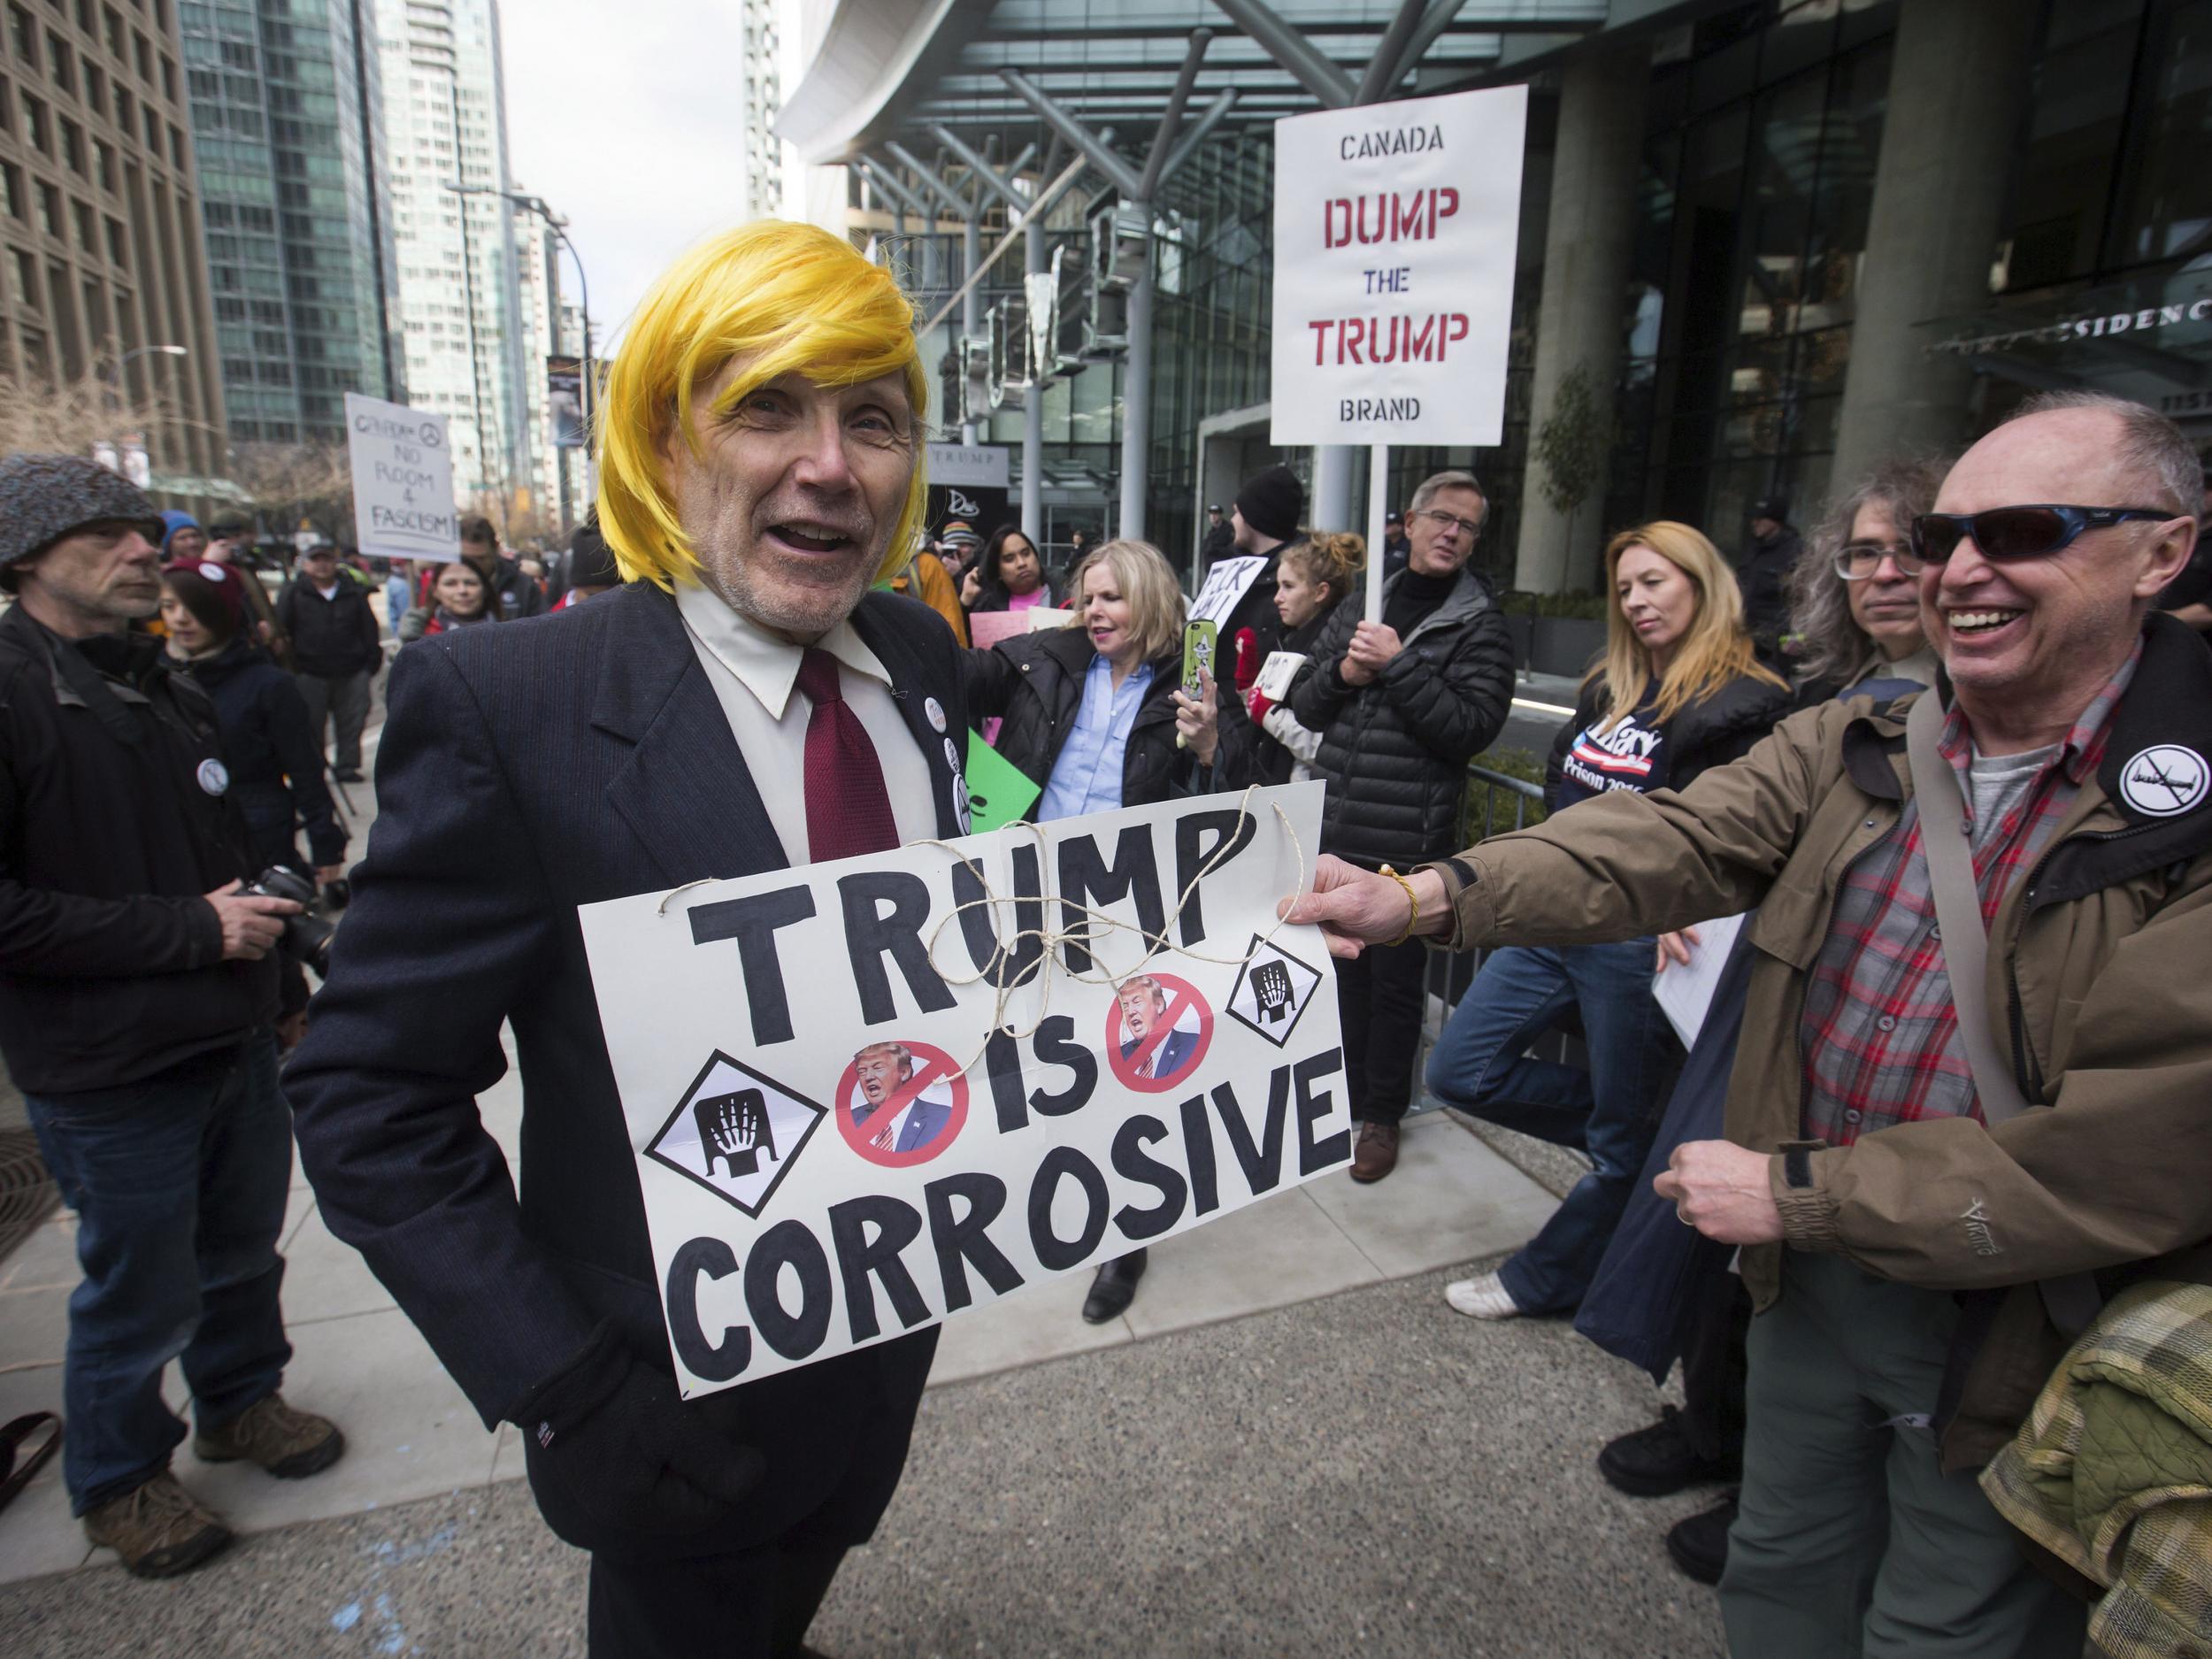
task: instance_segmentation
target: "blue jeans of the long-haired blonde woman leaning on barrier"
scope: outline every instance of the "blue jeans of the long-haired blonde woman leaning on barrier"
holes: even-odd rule
[[[1522,1053],[1568,1009],[1582,1011],[1588,1071]],[[1429,1091],[1491,1124],[1588,1152],[1593,1164],[1500,1267],[1522,1312],[1571,1312],[1590,1287],[1659,1128],[1666,1042],[1648,938],[1491,951],[1451,1011],[1429,1053]]]

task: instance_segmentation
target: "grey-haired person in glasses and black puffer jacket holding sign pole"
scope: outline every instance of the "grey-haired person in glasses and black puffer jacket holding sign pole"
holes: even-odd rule
[[[1513,706],[1513,637],[1467,568],[1484,511],[1471,473],[1438,473],[1413,491],[1413,551],[1383,588],[1383,622],[1365,622],[1356,599],[1338,606],[1292,686],[1290,712],[1321,732],[1314,772],[1329,783],[1321,852],[1402,872],[1464,845],[1467,763]],[[1398,1164],[1427,960],[1409,940],[1336,964],[1354,1181],[1380,1181]]]

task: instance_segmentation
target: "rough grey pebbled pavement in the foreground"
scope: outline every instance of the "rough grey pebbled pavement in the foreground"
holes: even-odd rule
[[[940,1380],[812,1644],[1714,1659],[1714,1599],[1661,1544],[1712,1493],[1639,1502],[1590,1467],[1650,1385],[1557,1321],[1460,1318],[1444,1279]],[[584,1557],[520,1482],[261,1533],[168,1584],[0,1590],[0,1652],[40,1659],[562,1659],[582,1628]]]

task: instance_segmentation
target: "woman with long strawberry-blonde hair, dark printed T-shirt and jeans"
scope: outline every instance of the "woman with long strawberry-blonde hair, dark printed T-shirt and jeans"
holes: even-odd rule
[[[1610,790],[1681,790],[1756,743],[1790,708],[1759,661],[1743,595],[1719,549],[1657,522],[1606,546],[1606,655],[1546,768],[1553,812]],[[1429,1055],[1444,1102],[1573,1146],[1590,1172],[1544,1230],[1493,1274],[1447,1287],[1475,1318],[1564,1314],[1588,1290],[1657,1128],[1659,1068],[1672,1042],[1652,1000],[1652,940],[1502,949],[1482,958]],[[1588,1071],[1531,1060],[1528,1044],[1579,1011]]]

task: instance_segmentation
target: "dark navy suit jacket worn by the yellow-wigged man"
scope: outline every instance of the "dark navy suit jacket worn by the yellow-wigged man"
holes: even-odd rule
[[[951,633],[889,593],[867,595],[854,626],[929,759],[938,834],[956,836],[951,763],[925,717],[936,697],[951,730],[967,723]],[[575,907],[783,869],[759,783],[799,779],[752,779],[675,599],[648,584],[442,633],[394,664],[369,854],[285,1093],[330,1230],[487,1425],[602,1321],[670,1367]],[[522,1062],[520,1201],[476,1110],[507,1071],[502,1020]],[[721,1546],[774,1537],[876,1475],[887,1502],[933,1345],[929,1329],[686,1407],[768,1460],[745,1535]],[[878,1418],[894,1431],[863,1433]]]

